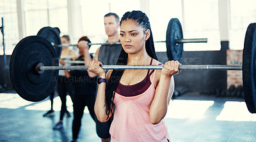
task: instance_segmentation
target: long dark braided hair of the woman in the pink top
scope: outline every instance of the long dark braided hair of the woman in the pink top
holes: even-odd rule
[[[131,12],[128,11],[123,15],[123,17],[120,21],[120,25],[122,24],[123,21],[128,20],[128,19],[131,19],[131,20],[134,20],[135,22],[137,22],[138,26],[143,27],[145,29],[145,31],[147,29],[150,30],[150,37],[148,38],[148,40],[145,43],[146,52],[148,53],[148,55],[150,57],[157,60],[153,35],[152,35],[150,22],[148,20],[147,15],[145,13],[143,13],[142,11],[131,11]],[[116,62],[116,65],[126,65],[127,60],[128,60],[128,54],[122,48],[120,55],[118,57],[118,60]],[[105,94],[105,106],[106,106],[106,114],[108,115],[108,118],[109,118],[110,113],[113,113],[113,101],[115,98],[115,91],[116,91],[116,88],[118,86],[118,83],[120,82],[120,79],[121,79],[123,73],[124,73],[123,69],[122,70],[114,69],[113,72],[111,73],[109,80],[108,80],[108,83],[106,86],[106,94]]]

